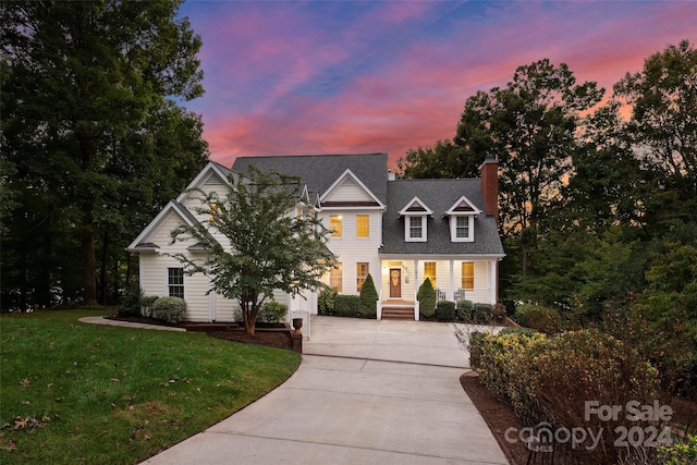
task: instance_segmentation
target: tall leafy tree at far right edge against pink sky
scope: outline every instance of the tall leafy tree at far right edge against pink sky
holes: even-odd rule
[[[697,50],[688,40],[668,46],[627,73],[614,98],[632,107],[622,130],[631,137],[650,187],[643,224],[660,234],[697,208]]]

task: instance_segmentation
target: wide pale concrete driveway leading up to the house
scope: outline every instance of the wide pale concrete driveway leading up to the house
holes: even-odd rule
[[[452,325],[314,317],[281,387],[147,464],[508,464]]]

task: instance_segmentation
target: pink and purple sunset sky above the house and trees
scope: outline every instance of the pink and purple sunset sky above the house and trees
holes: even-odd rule
[[[549,58],[612,91],[681,39],[697,1],[187,0],[211,159],[388,152],[452,138],[465,100]]]

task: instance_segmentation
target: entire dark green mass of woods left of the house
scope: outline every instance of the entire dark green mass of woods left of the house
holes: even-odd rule
[[[0,4],[2,151],[16,169],[8,189],[19,204],[2,289],[19,292],[21,305],[91,303],[97,281],[106,299],[109,271],[127,261],[123,248],[142,216],[205,162],[200,118],[174,103],[203,95],[200,37],[176,17],[179,4]]]

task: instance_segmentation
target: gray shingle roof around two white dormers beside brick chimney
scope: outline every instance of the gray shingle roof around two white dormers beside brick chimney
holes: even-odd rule
[[[474,242],[451,242],[449,219],[443,213],[463,195],[482,212],[475,219]],[[399,211],[415,196],[433,211],[432,218],[427,218],[428,242],[404,241],[404,218],[399,216]],[[381,254],[503,255],[496,220],[484,213],[481,182],[477,178],[390,181],[387,205],[382,217]]]

